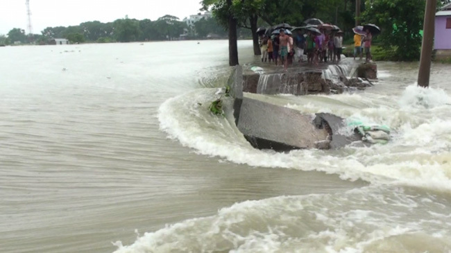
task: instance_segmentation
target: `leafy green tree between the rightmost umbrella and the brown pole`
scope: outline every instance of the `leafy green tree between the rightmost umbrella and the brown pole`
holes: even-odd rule
[[[362,18],[379,24],[384,49],[393,51],[392,60],[412,61],[420,58],[425,0],[367,0]]]

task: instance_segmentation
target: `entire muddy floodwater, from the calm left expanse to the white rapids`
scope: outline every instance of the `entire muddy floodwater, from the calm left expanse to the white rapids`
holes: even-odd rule
[[[0,252],[451,252],[448,65],[427,90],[417,64],[380,63],[364,92],[246,94],[394,130],[386,146],[275,153],[207,111],[227,50],[0,48]]]

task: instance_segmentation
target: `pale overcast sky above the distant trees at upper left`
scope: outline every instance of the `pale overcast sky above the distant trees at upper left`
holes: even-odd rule
[[[27,30],[26,0],[0,0],[0,35]],[[126,15],[155,20],[164,15],[183,19],[199,12],[201,0],[30,0],[33,33],[47,26],[76,26],[85,21],[114,21]],[[28,33],[28,30],[27,30]]]

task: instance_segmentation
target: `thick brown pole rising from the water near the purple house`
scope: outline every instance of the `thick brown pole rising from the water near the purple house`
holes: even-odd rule
[[[434,46],[436,0],[427,0],[425,23],[423,26],[423,45],[421,46],[418,86],[429,87],[431,74],[432,48]]]

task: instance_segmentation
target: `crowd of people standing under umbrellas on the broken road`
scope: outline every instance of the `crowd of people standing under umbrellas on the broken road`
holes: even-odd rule
[[[320,28],[320,34],[307,30],[307,34],[301,30],[295,31],[292,35],[286,30],[272,37],[262,35],[260,37],[260,48],[262,50],[262,62],[274,62],[278,65],[281,62],[284,71],[296,59],[299,63],[304,62],[304,55],[307,55],[307,63],[318,65],[320,62],[340,62],[343,51],[343,32],[332,31]],[[362,58],[363,51],[366,53],[366,62],[371,61],[371,40],[372,35],[366,30],[366,35],[356,34],[354,36],[354,59],[356,55]]]

